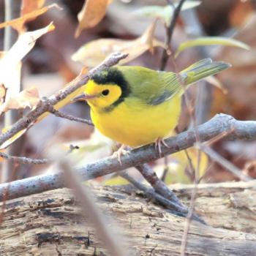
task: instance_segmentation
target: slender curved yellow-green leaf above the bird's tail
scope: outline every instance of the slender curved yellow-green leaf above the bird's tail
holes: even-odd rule
[[[250,50],[249,45],[246,45],[244,42],[238,41],[233,38],[227,37],[199,37],[197,39],[192,39],[186,42],[182,42],[178,46],[178,50],[175,53],[175,58],[187,48],[195,47],[195,46],[206,46],[206,45],[225,45],[225,46],[233,46],[238,48],[243,48],[245,50]]]

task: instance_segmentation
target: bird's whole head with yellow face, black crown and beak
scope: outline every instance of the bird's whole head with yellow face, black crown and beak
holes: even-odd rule
[[[76,100],[86,100],[91,108],[111,110],[129,95],[129,86],[124,75],[111,67],[92,76],[83,94]]]

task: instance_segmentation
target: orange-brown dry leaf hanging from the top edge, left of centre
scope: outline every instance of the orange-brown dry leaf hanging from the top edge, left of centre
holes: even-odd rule
[[[75,37],[79,37],[83,29],[89,29],[96,26],[105,16],[109,0],[86,0],[82,10],[78,13],[78,28],[75,31]]]

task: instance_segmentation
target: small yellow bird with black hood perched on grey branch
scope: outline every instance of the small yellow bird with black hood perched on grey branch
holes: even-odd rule
[[[92,75],[83,94],[91,120],[103,135],[124,146],[137,148],[155,143],[161,155],[165,138],[175,129],[181,113],[181,96],[192,83],[230,67],[222,61],[203,59],[181,72],[139,66],[114,66]]]

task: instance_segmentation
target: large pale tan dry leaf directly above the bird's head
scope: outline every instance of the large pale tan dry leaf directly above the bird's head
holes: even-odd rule
[[[124,39],[97,39],[83,45],[72,55],[73,61],[80,61],[87,67],[95,67],[102,62],[110,53],[128,53],[126,59],[119,62],[124,64],[137,58],[146,50],[153,50],[154,47],[165,47],[162,42],[154,39],[156,21],[146,29],[141,37],[133,40]]]

